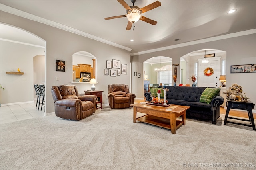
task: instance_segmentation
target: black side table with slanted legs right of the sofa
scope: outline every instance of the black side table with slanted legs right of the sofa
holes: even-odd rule
[[[226,115],[225,115],[224,125],[226,125],[226,123],[244,125],[244,126],[252,127],[252,129],[255,131],[256,129],[255,129],[254,118],[253,118],[253,114],[252,114],[252,109],[254,108],[255,104],[252,103],[250,100],[248,100],[248,102],[239,102],[239,101],[234,101],[234,100],[228,100],[227,102],[228,102],[228,106],[227,106],[227,111],[226,111]],[[228,117],[228,113],[229,113],[230,109],[247,110],[249,120],[239,119],[239,118],[235,118],[235,117]],[[236,120],[240,120],[240,121],[249,121],[250,125],[249,124],[232,122],[232,121],[227,121],[228,118],[229,119],[236,119]]]

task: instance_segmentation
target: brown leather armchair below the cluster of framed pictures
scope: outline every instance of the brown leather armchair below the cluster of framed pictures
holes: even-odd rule
[[[124,84],[108,85],[108,103],[111,109],[129,108],[134,104],[135,94],[129,92],[129,86]]]

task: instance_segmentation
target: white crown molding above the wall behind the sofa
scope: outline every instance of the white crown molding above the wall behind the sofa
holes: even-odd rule
[[[211,42],[211,41],[217,41],[217,40],[221,40],[221,39],[228,39],[228,38],[250,35],[250,34],[255,34],[255,33],[256,33],[256,29],[250,29],[250,30],[246,30],[246,31],[240,31],[240,32],[236,32],[236,33],[230,33],[230,34],[226,34],[226,35],[220,35],[220,36],[216,36],[216,37],[200,39],[200,40],[196,40],[196,41],[190,41],[190,42],[187,42],[187,43],[170,45],[170,46],[161,47],[161,48],[158,48],[158,49],[151,49],[151,50],[147,50],[147,51],[141,51],[141,52],[138,52],[138,53],[132,53],[131,55],[134,56],[134,55],[152,53],[152,52],[156,52],[156,51],[175,49],[175,48],[178,48],[178,47],[185,47],[185,46],[188,46],[188,45],[207,43],[207,42]]]

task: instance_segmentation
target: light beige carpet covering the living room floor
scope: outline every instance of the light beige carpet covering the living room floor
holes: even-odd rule
[[[255,169],[256,131],[223,125],[224,115],[216,125],[187,119],[175,135],[132,117],[132,109],[104,107],[81,121],[51,115],[3,124],[0,169]]]

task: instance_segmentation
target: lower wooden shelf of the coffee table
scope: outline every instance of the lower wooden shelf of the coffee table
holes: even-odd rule
[[[170,119],[166,119],[163,117],[157,117],[157,116],[153,116],[153,115],[144,115],[142,117],[136,118],[136,120],[144,122],[144,123],[148,123],[151,125],[156,125],[159,127],[164,127],[166,129],[171,129]],[[176,129],[178,127],[180,127],[182,124],[183,124],[182,121],[176,120]]]

